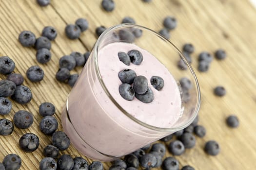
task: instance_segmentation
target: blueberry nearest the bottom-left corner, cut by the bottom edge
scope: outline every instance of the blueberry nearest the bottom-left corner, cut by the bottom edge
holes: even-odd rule
[[[21,158],[17,154],[8,154],[3,158],[2,164],[5,170],[19,170],[21,166]]]

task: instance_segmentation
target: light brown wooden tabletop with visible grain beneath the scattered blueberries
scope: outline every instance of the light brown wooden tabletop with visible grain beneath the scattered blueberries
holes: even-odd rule
[[[125,16],[134,17],[139,25],[153,30],[162,28],[162,20],[167,15],[177,17],[177,29],[172,31],[171,40],[178,48],[191,42],[196,47],[192,55],[194,68],[197,68],[197,55],[200,51],[213,53],[218,48],[227,52],[224,61],[214,60],[207,73],[197,70],[201,87],[201,109],[199,124],[207,129],[204,138],[197,137],[194,149],[177,156],[180,169],[191,165],[196,170],[241,170],[255,169],[256,165],[256,9],[247,0],[115,0],[116,8],[107,13],[100,8],[101,0],[52,0],[51,5],[39,7],[36,0],[0,0],[0,56],[9,56],[16,62],[14,72],[25,77],[27,68],[39,65],[45,72],[40,83],[31,83],[26,77],[24,85],[31,88],[33,100],[21,105],[13,102],[13,109],[7,116],[13,119],[18,110],[34,114],[31,127],[21,130],[15,127],[10,136],[0,136],[0,161],[8,153],[17,153],[22,158],[20,170],[37,170],[43,158],[43,148],[50,144],[50,136],[39,130],[39,104],[52,102],[56,106],[55,117],[60,122],[62,106],[71,88],[55,79],[58,61],[64,54],[72,51],[90,51],[97,40],[96,27],[110,27],[121,22]],[[79,40],[69,40],[64,35],[68,23],[79,17],[89,21],[89,30],[82,33]],[[30,30],[39,36],[44,26],[53,26],[58,37],[52,42],[52,60],[45,64],[36,61],[36,51],[24,48],[18,42],[23,30]],[[80,72],[81,68],[72,71]],[[0,75],[1,79],[5,76]],[[213,95],[213,88],[223,85],[227,95],[219,98]],[[237,129],[228,128],[225,118],[235,114],[240,120]],[[62,130],[61,125],[59,129]],[[24,153],[18,140],[24,133],[32,132],[39,136],[39,148],[33,153]],[[221,152],[217,156],[206,155],[202,148],[207,140],[219,142]],[[80,153],[71,147],[61,154],[72,157]],[[166,153],[170,156],[170,153]],[[89,162],[92,160],[88,159]],[[108,169],[110,163],[105,163]]]

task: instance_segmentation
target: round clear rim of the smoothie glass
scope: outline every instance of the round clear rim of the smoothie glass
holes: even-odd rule
[[[136,119],[135,117],[133,117],[131,114],[129,114],[125,109],[123,109],[119,104],[118,102],[112,97],[112,95],[110,94],[110,92],[108,91],[106,85],[104,84],[103,80],[102,80],[102,77],[101,77],[101,74],[100,74],[100,71],[99,71],[99,68],[98,68],[98,47],[99,47],[99,44],[102,42],[102,40],[104,39],[104,36],[106,34],[108,34],[109,32],[115,30],[115,29],[118,29],[118,28],[125,28],[125,27],[133,27],[133,28],[138,28],[138,29],[143,29],[143,30],[147,30],[149,32],[151,32],[152,34],[155,34],[156,36],[158,36],[159,38],[162,38],[164,39],[165,41],[167,41],[170,45],[172,45],[174,47],[174,49],[178,52],[179,56],[183,59],[183,61],[186,63],[186,65],[188,66],[188,69],[190,70],[194,80],[195,80],[195,84],[196,84],[196,90],[197,90],[197,104],[196,104],[196,107],[195,107],[195,110],[194,110],[194,113],[193,113],[193,118],[190,119],[190,121],[184,123],[183,125],[181,126],[178,126],[178,127],[171,127],[171,128],[161,128],[161,127],[157,127],[157,126],[153,126],[153,125],[150,125],[150,124],[147,124],[139,119]],[[158,34],[157,32],[155,32],[154,30],[151,30],[149,28],[146,28],[144,26],[140,26],[140,25],[136,25],[136,24],[118,24],[118,25],[114,25],[108,29],[106,29],[99,37],[98,37],[98,40],[96,41],[95,43],[95,47],[94,48],[94,51],[93,51],[93,59],[94,59],[94,65],[95,65],[95,68],[96,68],[96,72],[97,72],[97,77],[98,77],[98,80],[100,82],[100,85],[102,86],[104,92],[106,93],[106,95],[108,96],[108,98],[110,99],[111,102],[113,102],[117,107],[118,109],[124,114],[126,115],[128,118],[132,119],[133,121],[137,122],[138,124],[146,127],[146,128],[149,128],[149,129],[152,129],[152,130],[156,130],[156,131],[160,131],[160,132],[172,132],[172,131],[178,131],[178,130],[181,130],[181,129],[184,129],[185,127],[187,127],[189,124],[191,124],[193,122],[193,120],[196,118],[197,116],[197,113],[199,111],[199,108],[200,108],[200,99],[201,99],[201,94],[200,94],[200,88],[199,88],[199,84],[198,84],[198,81],[197,81],[197,76],[193,70],[193,68],[191,67],[191,65],[189,64],[189,62],[187,61],[187,59],[183,56],[182,52],[180,52],[178,50],[178,48],[171,42],[169,41],[168,39],[166,39],[165,37],[163,37],[161,34]]]

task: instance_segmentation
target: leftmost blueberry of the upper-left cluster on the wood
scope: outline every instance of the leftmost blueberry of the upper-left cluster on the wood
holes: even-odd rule
[[[31,31],[22,31],[19,35],[19,41],[23,47],[32,47],[36,43],[36,35]]]

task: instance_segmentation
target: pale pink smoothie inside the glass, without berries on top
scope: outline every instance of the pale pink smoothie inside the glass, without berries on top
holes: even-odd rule
[[[126,66],[119,61],[119,51],[133,49],[143,55],[139,66],[132,63]],[[69,119],[65,109],[62,114],[64,131],[81,153],[94,159],[110,161],[115,156],[131,153],[172,133],[147,128],[126,116],[104,91],[97,77],[94,59],[94,56],[90,56],[68,97]],[[149,52],[135,44],[111,43],[98,50],[98,68],[111,96],[132,117],[159,128],[171,128],[181,116],[177,83],[168,69]],[[149,83],[154,93],[153,102],[143,103],[136,98],[126,101],[120,96],[118,72],[126,68],[145,76],[149,82],[152,76],[163,78],[164,87],[159,91]]]

